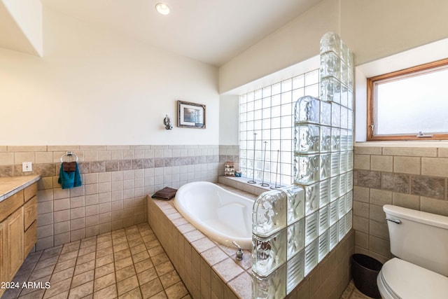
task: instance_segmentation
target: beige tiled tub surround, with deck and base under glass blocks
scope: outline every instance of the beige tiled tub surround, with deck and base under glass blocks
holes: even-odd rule
[[[236,261],[234,248],[208,239],[179,217],[172,200],[147,200],[148,223],[193,298],[252,298],[250,251]],[[351,230],[287,298],[339,298],[351,279],[353,239]]]

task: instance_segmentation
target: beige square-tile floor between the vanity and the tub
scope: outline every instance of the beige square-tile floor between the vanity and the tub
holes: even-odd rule
[[[190,298],[148,223],[30,253],[6,298]]]

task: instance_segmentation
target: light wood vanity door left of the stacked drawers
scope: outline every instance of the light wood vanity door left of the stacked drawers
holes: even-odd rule
[[[23,207],[3,221],[3,281],[14,278],[23,263]]]

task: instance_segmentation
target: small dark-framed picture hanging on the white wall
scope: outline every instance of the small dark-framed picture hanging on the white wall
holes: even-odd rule
[[[205,129],[205,105],[177,101],[178,127]]]

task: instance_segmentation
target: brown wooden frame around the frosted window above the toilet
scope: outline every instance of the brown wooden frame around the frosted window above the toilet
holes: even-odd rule
[[[447,68],[448,58],[444,60],[437,60],[427,64],[420,64],[416,67],[409,67],[400,71],[393,71],[388,74],[374,76],[367,78],[367,141],[428,141],[428,140],[448,140],[448,133],[446,134],[432,134],[430,136],[417,137],[416,134],[393,134],[393,135],[375,135],[374,134],[374,88],[379,81],[393,81],[400,78],[409,77],[414,73],[423,73],[424,71],[431,72],[437,69]]]

